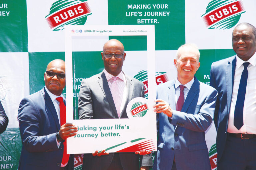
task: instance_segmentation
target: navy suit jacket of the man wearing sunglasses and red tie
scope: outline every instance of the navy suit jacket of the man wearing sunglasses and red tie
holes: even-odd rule
[[[22,139],[20,170],[59,170],[63,143],[58,148],[56,133],[60,124],[53,102],[43,88],[22,99],[18,110]],[[74,169],[74,155],[70,155],[69,170]]]

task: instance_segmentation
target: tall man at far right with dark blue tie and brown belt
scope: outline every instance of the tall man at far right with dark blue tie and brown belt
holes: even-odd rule
[[[256,169],[256,29],[241,23],[232,33],[236,55],[213,62],[210,85],[217,89],[217,169]]]

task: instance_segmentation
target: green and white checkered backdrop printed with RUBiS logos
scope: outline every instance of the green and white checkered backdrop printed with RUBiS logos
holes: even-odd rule
[[[18,106],[23,97],[43,88],[47,63],[65,59],[64,25],[154,24],[156,84],[175,78],[173,59],[184,43],[198,45],[201,66],[196,77],[209,84],[211,63],[235,54],[231,43],[234,26],[241,22],[256,26],[255,8],[254,0],[0,0],[0,100],[9,117],[7,130],[0,135],[0,169],[18,167],[22,145]],[[104,41],[112,38],[125,46],[126,74],[144,82],[147,90],[146,37],[109,36]],[[74,66],[83,68],[75,71],[75,99],[81,80],[104,68],[100,55],[104,41],[98,41],[89,49],[88,44],[74,43],[79,46],[73,52]],[[78,118],[77,112],[74,118]],[[206,132],[212,169],[216,169],[215,138],[212,125]],[[82,156],[76,155],[76,169],[81,169]]]

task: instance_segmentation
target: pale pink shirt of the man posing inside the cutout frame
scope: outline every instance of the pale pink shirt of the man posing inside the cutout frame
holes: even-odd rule
[[[103,72],[107,78],[109,89],[111,89],[111,85],[113,83],[112,77],[115,77],[115,76],[107,72],[105,69],[103,70]],[[126,86],[126,79],[123,71],[121,71],[116,77],[118,77],[116,81],[118,86],[119,98],[120,98],[120,101],[122,101],[120,106],[120,116],[121,116],[121,113],[126,101],[126,97],[127,97],[127,86]]]

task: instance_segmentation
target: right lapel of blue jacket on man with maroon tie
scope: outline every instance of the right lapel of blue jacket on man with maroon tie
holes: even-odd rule
[[[181,112],[186,112],[188,107],[190,106],[191,102],[193,101],[193,99],[195,98],[196,94],[199,92],[199,81],[197,80],[196,77],[194,77],[195,81],[192,84],[188,95],[184,101],[183,107],[181,109]]]

